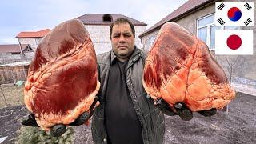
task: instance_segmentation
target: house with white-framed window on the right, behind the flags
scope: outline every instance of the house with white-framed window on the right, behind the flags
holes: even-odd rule
[[[151,26],[143,34],[139,35],[146,50],[150,50],[161,26],[166,22],[176,22],[190,30],[190,32],[206,42],[210,53],[225,70],[230,82],[236,90],[256,95],[256,32],[255,12],[253,27],[226,27],[214,25],[215,2],[234,2],[233,0],[188,0],[178,7],[166,18]],[[238,1],[237,1],[238,2]],[[240,0],[239,2],[254,2],[253,0]],[[254,3],[254,10],[255,3]],[[215,55],[215,30],[217,29],[252,29],[254,30],[254,55]]]

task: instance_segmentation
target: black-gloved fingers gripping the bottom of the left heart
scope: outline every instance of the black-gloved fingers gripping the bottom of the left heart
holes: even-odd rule
[[[90,117],[94,114],[94,108],[99,105],[98,97],[94,98],[93,104],[90,106],[89,112],[82,113],[74,122],[71,122],[70,126],[79,126],[87,122]],[[22,119],[22,125],[24,126],[38,126],[34,114],[29,114]],[[66,125],[57,124],[50,129],[50,134],[54,137],[59,137],[66,132]]]

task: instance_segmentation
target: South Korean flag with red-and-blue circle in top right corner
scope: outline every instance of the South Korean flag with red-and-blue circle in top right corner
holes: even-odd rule
[[[254,26],[254,2],[216,2],[216,26]]]

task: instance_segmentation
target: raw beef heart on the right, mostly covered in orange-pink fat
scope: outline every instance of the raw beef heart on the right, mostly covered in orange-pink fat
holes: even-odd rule
[[[146,58],[143,86],[151,98],[192,111],[221,109],[235,95],[206,44],[173,22],[162,26]]]

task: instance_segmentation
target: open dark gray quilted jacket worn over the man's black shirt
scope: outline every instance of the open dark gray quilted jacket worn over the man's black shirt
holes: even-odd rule
[[[146,98],[147,94],[142,86],[142,74],[146,56],[146,51],[138,50],[135,47],[126,68],[126,83],[136,114],[141,122],[143,143],[162,144],[165,132],[164,115]],[[92,118],[91,130],[95,144],[107,143],[104,107],[110,63],[113,62],[114,58],[113,51],[97,56],[101,82],[98,98],[101,104],[94,110]]]

